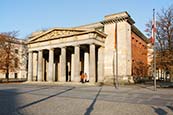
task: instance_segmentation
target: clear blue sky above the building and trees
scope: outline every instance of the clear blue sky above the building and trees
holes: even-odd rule
[[[18,38],[25,38],[40,29],[79,26],[122,11],[144,32],[152,9],[171,4],[173,0],[0,0],[0,32],[16,30]]]

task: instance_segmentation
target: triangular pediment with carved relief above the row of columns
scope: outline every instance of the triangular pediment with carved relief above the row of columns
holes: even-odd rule
[[[57,39],[60,37],[81,33],[84,31],[85,30],[56,28],[56,29],[51,29],[46,32],[43,32],[40,35],[29,39],[29,42],[39,42],[39,41],[45,41],[50,39]]]

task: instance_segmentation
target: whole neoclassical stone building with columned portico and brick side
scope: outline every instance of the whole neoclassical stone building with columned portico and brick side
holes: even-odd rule
[[[132,82],[133,64],[147,64],[146,37],[127,12],[73,28],[53,28],[28,39],[28,81]],[[138,51],[136,52],[136,49]]]

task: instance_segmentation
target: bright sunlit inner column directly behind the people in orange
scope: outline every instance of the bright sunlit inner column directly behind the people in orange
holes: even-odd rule
[[[87,80],[89,80],[89,53],[84,53],[84,73],[87,74]]]

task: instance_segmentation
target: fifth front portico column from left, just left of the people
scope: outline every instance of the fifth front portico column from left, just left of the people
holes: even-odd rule
[[[80,47],[75,46],[75,67],[74,67],[74,81],[80,81]]]

